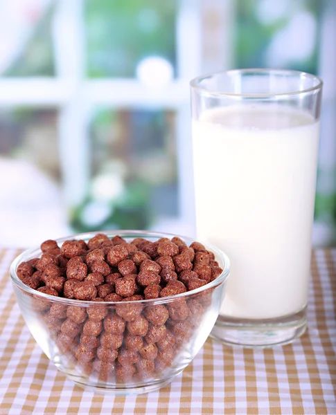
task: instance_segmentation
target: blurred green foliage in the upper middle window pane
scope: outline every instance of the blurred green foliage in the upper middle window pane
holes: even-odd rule
[[[134,77],[136,65],[159,55],[176,66],[177,0],[86,0],[87,75]]]

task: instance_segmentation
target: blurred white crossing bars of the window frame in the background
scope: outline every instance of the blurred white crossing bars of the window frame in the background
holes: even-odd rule
[[[62,190],[69,207],[80,203],[87,192],[90,178],[88,125],[94,107],[105,105],[112,109],[141,107],[175,111],[179,222],[192,230],[194,202],[189,81],[204,71],[230,66],[231,25],[228,22],[233,21],[234,0],[179,1],[176,24],[179,77],[157,89],[148,89],[135,79],[89,80],[85,77],[84,3],[84,0],[58,0],[56,3],[53,15],[55,77],[0,77],[0,106],[58,109]],[[219,19],[219,24],[212,30],[204,26],[204,17],[210,12]],[[213,42],[213,30],[218,42]],[[209,37],[213,48],[211,56],[206,56]],[[203,62],[207,62],[206,66]],[[190,156],[186,157],[188,154]]]

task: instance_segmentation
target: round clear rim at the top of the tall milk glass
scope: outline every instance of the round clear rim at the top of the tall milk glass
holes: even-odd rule
[[[215,75],[234,75],[238,73],[258,73],[259,75],[265,75],[267,73],[274,73],[275,75],[297,75],[297,76],[304,76],[311,80],[317,80],[317,85],[310,86],[310,88],[301,89],[298,91],[288,91],[288,92],[280,92],[280,93],[233,93],[233,92],[222,92],[222,91],[211,91],[209,89],[200,86],[200,82],[205,80],[206,78],[214,77]],[[191,89],[202,93],[202,95],[207,95],[211,97],[229,97],[229,98],[271,98],[271,97],[278,97],[278,96],[288,96],[288,95],[299,95],[301,93],[308,93],[312,91],[317,91],[322,88],[323,80],[321,77],[317,75],[313,75],[312,73],[303,72],[303,71],[294,71],[292,69],[276,69],[276,68],[241,68],[241,69],[229,69],[227,71],[217,71],[206,73],[204,75],[197,76],[189,82]]]

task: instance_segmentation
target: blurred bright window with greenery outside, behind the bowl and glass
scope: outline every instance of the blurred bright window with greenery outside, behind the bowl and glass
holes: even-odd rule
[[[194,234],[189,86],[227,68],[324,78],[315,246],[336,243],[335,0],[0,0],[0,245]]]

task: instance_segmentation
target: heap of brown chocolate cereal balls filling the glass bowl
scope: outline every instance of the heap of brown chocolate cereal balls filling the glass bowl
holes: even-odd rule
[[[165,297],[200,288],[222,273],[213,252],[198,242],[188,247],[179,237],[127,243],[96,234],[88,243],[69,240],[58,248],[48,240],[41,248],[41,257],[19,264],[17,275],[41,293],[91,302],[69,306],[33,297],[60,352],[101,382],[159,377],[188,347],[213,290]],[[160,298],[166,304],[141,302]]]

